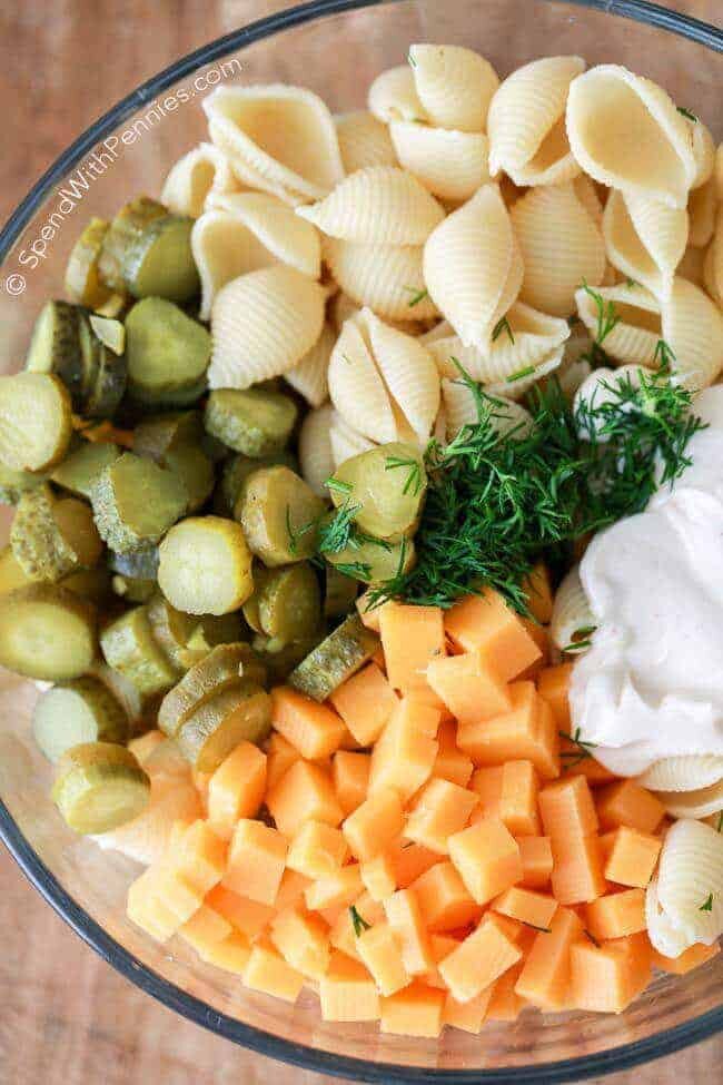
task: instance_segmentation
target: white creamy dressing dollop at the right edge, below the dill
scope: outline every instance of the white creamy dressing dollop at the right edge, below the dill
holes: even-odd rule
[[[723,754],[723,386],[693,410],[709,428],[692,465],[581,562],[597,629],[573,671],[573,723],[618,776]]]

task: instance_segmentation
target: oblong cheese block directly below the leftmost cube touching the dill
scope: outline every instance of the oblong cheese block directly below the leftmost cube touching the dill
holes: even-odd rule
[[[374,747],[369,793],[393,788],[403,801],[412,798],[432,772],[438,727],[437,709],[413,698],[400,701]]]

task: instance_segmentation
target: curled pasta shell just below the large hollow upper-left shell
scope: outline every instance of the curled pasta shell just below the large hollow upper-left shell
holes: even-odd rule
[[[271,264],[289,264],[318,278],[321,245],[317,231],[264,193],[238,193],[219,199],[191,230],[191,250],[201,280],[201,319],[216,294],[231,279]]]

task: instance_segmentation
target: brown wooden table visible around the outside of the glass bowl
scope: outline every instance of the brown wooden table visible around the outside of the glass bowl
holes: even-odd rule
[[[287,4],[274,0],[28,0],[0,13],[0,221],[100,112],[177,57]],[[670,4],[720,22],[721,0]],[[142,26],[142,40],[137,28]],[[72,100],[58,95],[72,67]],[[0,1085],[324,1085],[174,1015],[88,949],[0,854]],[[723,1037],[606,1078],[717,1081]]]

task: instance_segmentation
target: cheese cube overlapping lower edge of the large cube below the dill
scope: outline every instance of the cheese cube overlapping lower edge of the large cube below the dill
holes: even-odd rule
[[[460,723],[477,723],[512,708],[507,682],[484,649],[437,657],[427,668],[427,681]]]

